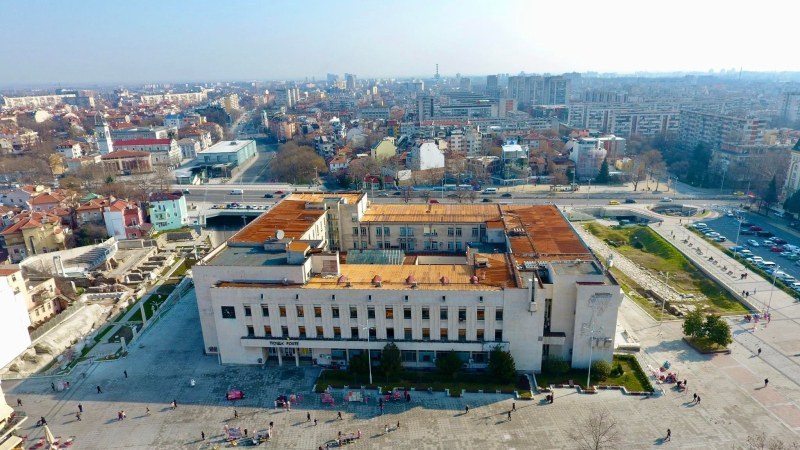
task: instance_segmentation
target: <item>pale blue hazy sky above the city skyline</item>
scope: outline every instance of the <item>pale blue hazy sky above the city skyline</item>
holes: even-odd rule
[[[787,4],[2,0],[0,85],[431,76],[436,63],[443,76],[798,71]]]

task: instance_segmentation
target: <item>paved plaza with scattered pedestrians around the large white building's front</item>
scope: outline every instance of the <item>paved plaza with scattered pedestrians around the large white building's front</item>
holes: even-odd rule
[[[543,395],[534,401],[517,400],[510,422],[506,413],[514,400],[507,395],[449,398],[443,393],[413,392],[410,403],[389,403],[379,416],[375,404],[342,406],[341,392],[335,394],[336,408],[323,407],[311,393],[317,368],[220,366],[216,357],[202,353],[193,292],[146,331],[127,358],[78,366],[65,379],[71,383],[68,391],[53,392],[50,383],[54,380],[47,378],[6,381],[3,389],[9,404],[20,398],[23,407],[18,409],[31,416],[22,434],[29,439],[41,437],[42,430],[34,423],[45,416],[54,434],[75,436],[75,449],[225,448],[225,425],[247,428],[253,434],[264,431],[270,422],[275,424],[274,436],[262,447],[276,449],[316,449],[335,440],[339,431],[358,430],[363,437],[349,447],[575,448],[570,430],[585,423],[595,410],[606,410],[616,420],[619,448],[736,448],[759,432],[794,442],[800,439],[796,384],[800,349],[794,344],[800,323],[789,313],[794,304],[780,300],[776,304],[773,298],[773,308],[779,308],[775,318],[767,328],[760,324],[756,333],[733,319],[732,353],[704,356],[683,343],[679,321],[659,326],[625,299],[620,321],[639,338],[644,349],[640,361],[653,366],[670,361],[679,377],[688,380],[689,390],[679,393],[668,386],[663,394],[648,398],[617,391],[582,395],[557,389],[553,404],[545,404]],[[763,349],[761,357],[753,354],[758,346]],[[764,378],[770,380],[767,388]],[[231,403],[225,400],[228,389],[241,389],[246,398]],[[284,393],[304,398],[289,412],[275,410],[273,400]],[[701,396],[699,405],[691,401],[692,393]],[[170,408],[172,400],[177,401],[176,410]],[[75,417],[78,404],[84,410],[81,421]],[[465,406],[470,407],[469,413],[464,413]],[[150,415],[145,414],[146,408]],[[120,410],[125,411],[125,420],[117,420]],[[339,411],[344,420],[337,419]],[[306,422],[307,413],[318,420],[317,426]],[[395,429],[398,421],[400,429]],[[386,424],[389,433],[384,432]],[[672,430],[672,440],[663,442],[667,428]],[[201,441],[201,432],[206,441]]]

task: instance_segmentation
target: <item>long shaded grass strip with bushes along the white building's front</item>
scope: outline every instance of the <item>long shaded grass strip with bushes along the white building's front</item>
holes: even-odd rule
[[[369,384],[369,376],[354,376],[346,370],[324,370],[317,379],[317,392],[322,392],[328,385],[333,387],[342,387],[345,385],[356,386],[369,386],[370,388],[377,388],[382,386],[383,390],[389,390],[394,387],[415,388],[417,391],[427,390],[429,387],[434,390],[442,391],[450,389],[450,392],[460,393],[462,389],[467,391],[477,392],[483,390],[484,392],[494,392],[500,390],[503,392],[512,392],[522,387],[514,383],[499,384],[492,380],[492,377],[486,373],[459,373],[456,375],[455,380],[448,380],[443,378],[438,372],[423,372],[406,370],[400,373],[400,376],[389,380],[373,372],[372,385]]]

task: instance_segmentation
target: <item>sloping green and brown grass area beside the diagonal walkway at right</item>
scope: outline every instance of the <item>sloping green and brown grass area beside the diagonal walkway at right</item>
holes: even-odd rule
[[[677,248],[648,227],[614,229],[597,223],[586,224],[586,229],[606,241],[631,261],[653,273],[669,272],[669,284],[679,292],[702,295],[706,312],[716,314],[742,314],[747,309],[728,291],[697,269]],[[633,286],[631,286],[633,287]],[[645,295],[644,292],[640,294]]]

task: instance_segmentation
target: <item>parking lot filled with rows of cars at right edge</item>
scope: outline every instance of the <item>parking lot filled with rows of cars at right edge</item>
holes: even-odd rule
[[[795,253],[792,251],[794,248],[791,247],[800,247],[800,238],[797,238],[797,236],[773,226],[769,223],[769,221],[764,220],[762,217],[755,216],[754,214],[740,214],[739,217],[743,219],[742,222],[737,219],[736,215],[737,214],[734,214],[734,216],[731,217],[730,215],[727,215],[725,211],[723,211],[720,214],[720,217],[716,219],[704,220],[703,223],[708,225],[710,229],[716,231],[726,238],[726,241],[722,243],[723,246],[727,248],[736,246],[738,233],[738,246],[749,250],[752,253],[752,256],[761,258],[765,262],[774,262],[777,270],[785,272],[787,275],[790,275],[796,279],[800,279],[800,264],[798,264],[800,261],[800,251]],[[750,230],[751,227],[761,228],[761,234],[764,234],[765,232],[771,233],[774,235],[774,238],[782,239],[783,241],[786,241],[786,243],[776,244],[766,242],[768,239],[774,238],[769,236],[758,236],[759,232],[756,230]],[[695,238],[692,239],[694,240]],[[700,238],[697,237],[696,239]],[[705,241],[705,245],[711,245],[710,239],[704,238],[703,241]],[[755,242],[755,244],[753,242]],[[787,248],[787,245],[790,247]],[[779,249],[780,251],[778,251]],[[738,258],[737,260],[741,261]]]

